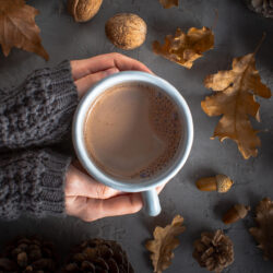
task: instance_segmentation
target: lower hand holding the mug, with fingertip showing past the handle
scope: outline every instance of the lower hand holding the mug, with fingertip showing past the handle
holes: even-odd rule
[[[162,191],[164,186],[157,188]],[[67,171],[64,187],[67,214],[92,222],[107,216],[139,212],[141,193],[127,193],[95,181],[79,163],[71,164]]]

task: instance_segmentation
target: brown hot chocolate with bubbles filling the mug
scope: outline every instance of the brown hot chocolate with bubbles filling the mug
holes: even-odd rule
[[[119,178],[150,177],[164,168],[181,140],[176,105],[147,84],[116,85],[86,116],[84,140],[97,166]]]

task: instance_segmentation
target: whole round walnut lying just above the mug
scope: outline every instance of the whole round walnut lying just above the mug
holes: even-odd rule
[[[121,49],[140,47],[146,37],[146,23],[136,14],[118,13],[110,17],[105,25],[109,40]]]

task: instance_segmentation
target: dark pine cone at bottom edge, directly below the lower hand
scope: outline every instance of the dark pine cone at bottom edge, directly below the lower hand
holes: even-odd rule
[[[63,272],[133,273],[133,269],[116,241],[90,239],[72,251]]]

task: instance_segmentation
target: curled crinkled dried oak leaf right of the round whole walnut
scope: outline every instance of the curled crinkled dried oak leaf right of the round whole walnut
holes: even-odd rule
[[[203,26],[201,29],[191,27],[188,33],[177,28],[175,36],[167,35],[165,44],[153,43],[153,51],[164,58],[177,62],[190,69],[193,61],[202,57],[202,54],[214,46],[212,29]]]

